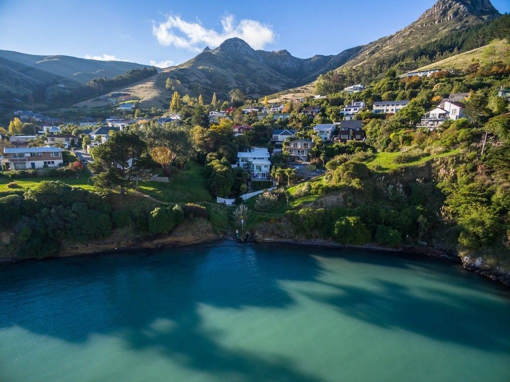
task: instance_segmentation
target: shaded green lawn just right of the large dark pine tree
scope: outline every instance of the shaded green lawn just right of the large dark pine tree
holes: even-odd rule
[[[155,199],[170,203],[214,201],[207,189],[203,167],[190,161],[186,169],[170,176],[170,182],[140,182],[138,189]]]

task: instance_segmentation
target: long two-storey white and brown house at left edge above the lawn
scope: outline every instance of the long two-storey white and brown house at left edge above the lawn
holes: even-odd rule
[[[62,165],[64,150],[59,147],[6,147],[3,163],[11,170],[56,167]]]

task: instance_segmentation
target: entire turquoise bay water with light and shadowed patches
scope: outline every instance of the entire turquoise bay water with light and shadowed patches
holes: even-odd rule
[[[510,293],[447,262],[276,245],[0,266],[0,381],[508,381]]]

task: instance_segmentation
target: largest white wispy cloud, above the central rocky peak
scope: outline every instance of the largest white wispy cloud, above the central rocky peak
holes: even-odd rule
[[[218,46],[232,37],[243,39],[254,49],[262,49],[266,44],[274,42],[272,27],[259,21],[243,19],[236,23],[233,15],[225,15],[221,18],[221,24],[222,30],[217,32],[202,27],[198,22],[188,22],[181,16],[170,15],[158,25],[152,22],[152,34],[161,45],[173,45],[195,52],[203,45]]]

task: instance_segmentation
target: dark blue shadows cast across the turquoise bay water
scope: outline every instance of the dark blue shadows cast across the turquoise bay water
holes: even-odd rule
[[[69,342],[84,342],[91,334],[116,335],[124,329],[123,339],[134,349],[157,348],[174,362],[201,372],[236,375],[237,380],[319,382],[321,378],[299,371],[288,359],[268,360],[226,348],[218,341],[223,334],[205,328],[199,312],[203,304],[218,309],[285,309],[296,302],[281,282],[297,281],[327,286],[334,293],[300,293],[373,325],[510,352],[508,338],[498,332],[507,327],[501,320],[508,320],[510,314],[504,301],[482,296],[470,300],[431,289],[416,294],[384,279],[373,279],[371,288],[325,282],[323,265],[308,253],[320,252],[221,243],[167,249],[151,256],[140,253],[5,266],[0,268],[0,329],[20,326]],[[348,263],[387,265],[377,255],[361,257],[342,254]],[[390,263],[408,266],[404,259]],[[171,322],[172,328],[148,330],[148,334],[158,320]]]

